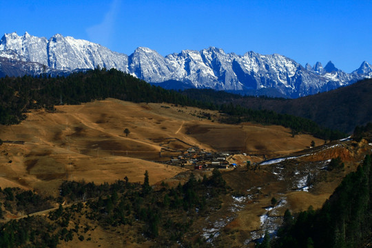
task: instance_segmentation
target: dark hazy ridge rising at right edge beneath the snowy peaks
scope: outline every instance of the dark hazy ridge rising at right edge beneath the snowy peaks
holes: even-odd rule
[[[246,97],[233,100],[254,110],[272,110],[309,118],[323,127],[353,132],[355,126],[372,122],[372,79],[305,96],[299,99],[265,99]]]

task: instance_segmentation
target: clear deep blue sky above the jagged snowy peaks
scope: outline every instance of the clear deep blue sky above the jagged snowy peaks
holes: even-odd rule
[[[298,63],[333,61],[345,72],[372,64],[372,1],[1,1],[0,37],[24,32],[163,56],[209,46],[278,53]]]

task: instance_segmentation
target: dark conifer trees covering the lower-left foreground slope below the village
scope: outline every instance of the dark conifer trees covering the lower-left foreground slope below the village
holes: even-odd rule
[[[45,217],[0,223],[0,247],[56,247],[74,238],[89,242],[91,237],[87,232],[97,226],[103,229],[121,227],[116,229],[116,235],[120,230],[131,230],[131,235],[138,236],[137,243],[152,240],[160,247],[180,244],[208,247],[201,238],[187,237],[194,237],[194,220],[216,211],[222,203],[221,197],[229,191],[218,169],[209,178],[204,176],[203,180],[196,180],[194,174],[190,174],[184,185],[169,187],[162,183],[158,190],[149,185],[147,171],[142,184],[130,183],[127,178],[101,185],[65,181],[60,189],[61,196],[54,198],[54,202],[66,200],[73,205],[59,205]],[[4,189],[2,196],[35,202],[30,193],[23,194],[17,189],[19,193],[14,196],[13,192],[14,189]],[[90,222],[86,223],[85,218]]]

